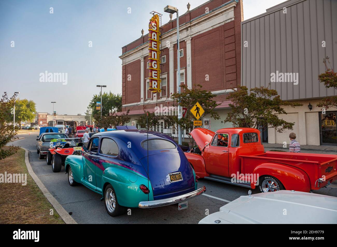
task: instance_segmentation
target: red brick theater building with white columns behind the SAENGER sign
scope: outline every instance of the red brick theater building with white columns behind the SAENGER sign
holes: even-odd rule
[[[216,95],[220,119],[203,116],[204,128],[215,131],[231,127],[223,120],[230,111],[226,95],[241,84],[242,0],[211,0],[184,14],[179,12],[181,74],[177,75],[177,23],[173,19],[161,26],[160,93],[148,90],[148,35],[122,47],[122,112],[130,110],[129,125],[137,125],[135,119],[144,110],[154,112],[156,106],[172,106],[170,95],[177,92],[178,77],[189,88],[201,84]],[[164,120],[157,130],[177,136]]]

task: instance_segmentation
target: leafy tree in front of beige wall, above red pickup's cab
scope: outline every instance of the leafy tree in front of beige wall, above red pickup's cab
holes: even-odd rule
[[[279,118],[279,114],[287,114],[282,106],[297,107],[302,104],[291,101],[283,101],[275,89],[268,87],[238,86],[229,93],[227,99],[231,112],[227,114],[225,122],[233,123],[233,127],[249,127],[259,129],[261,132],[268,127],[275,128],[282,133],[285,129],[293,129],[294,122],[287,122]]]

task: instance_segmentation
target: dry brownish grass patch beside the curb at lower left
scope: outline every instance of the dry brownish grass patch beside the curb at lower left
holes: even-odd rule
[[[28,174],[24,149],[19,149],[16,154],[0,160],[0,173],[5,174],[5,171],[7,174],[26,173],[27,185],[0,183],[1,224],[64,224],[64,221]],[[50,215],[50,209],[53,209],[54,215]]]

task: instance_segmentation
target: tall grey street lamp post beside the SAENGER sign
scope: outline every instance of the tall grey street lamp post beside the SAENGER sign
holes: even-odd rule
[[[181,90],[180,90],[180,49],[179,49],[179,11],[176,7],[167,5],[164,8],[164,12],[166,13],[177,13],[177,65],[178,65],[178,74],[177,74],[177,85],[178,86],[178,93],[180,94]],[[178,78],[179,78],[179,84],[178,84]],[[182,113],[181,113],[181,107],[180,107],[180,97],[178,100],[178,120],[180,120],[182,118]],[[181,131],[181,126],[178,124],[178,144],[182,144],[182,131]]]

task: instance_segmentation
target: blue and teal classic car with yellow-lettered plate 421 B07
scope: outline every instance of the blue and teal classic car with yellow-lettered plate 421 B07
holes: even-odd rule
[[[70,186],[83,184],[102,195],[111,216],[126,208],[184,205],[201,195],[184,152],[169,136],[146,130],[105,131],[93,135],[82,156],[65,159]]]

